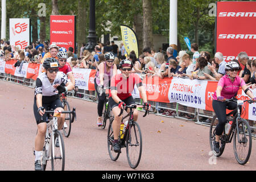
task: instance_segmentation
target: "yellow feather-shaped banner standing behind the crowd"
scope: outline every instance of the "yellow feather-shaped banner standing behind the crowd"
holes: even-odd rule
[[[128,26],[121,25],[121,34],[122,34],[122,40],[123,45],[125,46],[127,55],[129,56],[131,51],[135,52],[136,57],[139,57],[139,48],[138,48],[138,42],[137,42],[137,36],[133,29],[131,29]]]

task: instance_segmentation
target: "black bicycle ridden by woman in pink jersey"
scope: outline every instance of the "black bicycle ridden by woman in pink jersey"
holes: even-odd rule
[[[210,149],[212,150],[215,156],[220,157],[224,152],[225,144],[231,143],[234,137],[234,140],[233,140],[234,155],[237,162],[243,165],[243,164],[246,164],[250,158],[252,137],[251,137],[251,129],[250,129],[249,123],[246,121],[246,119],[241,118],[242,105],[245,102],[248,102],[249,104],[251,104],[255,101],[253,100],[240,101],[240,100],[234,100],[232,98],[232,99],[226,99],[224,100],[224,102],[235,102],[237,104],[236,109],[226,114],[227,123],[229,121],[232,121],[232,125],[230,127],[229,133],[226,133],[224,128],[224,133],[220,137],[220,152],[216,153],[213,150],[213,142],[215,140],[215,130],[216,130],[216,126],[218,125],[218,118],[216,115],[214,115],[212,122],[210,123],[210,136],[209,136]],[[247,147],[247,150],[246,150],[246,147]]]

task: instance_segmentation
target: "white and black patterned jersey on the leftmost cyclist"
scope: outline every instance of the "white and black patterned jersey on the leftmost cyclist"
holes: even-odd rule
[[[52,83],[49,82],[46,72],[41,73],[36,78],[35,95],[42,94],[43,103],[52,102],[56,96],[59,96],[57,89],[53,88],[53,85],[61,83],[67,84],[67,82],[69,82],[69,79],[63,72],[57,72],[57,75]]]

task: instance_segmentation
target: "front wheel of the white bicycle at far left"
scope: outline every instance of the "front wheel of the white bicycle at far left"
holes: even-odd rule
[[[59,130],[56,130],[52,142],[52,171],[64,171],[65,149],[64,140]]]

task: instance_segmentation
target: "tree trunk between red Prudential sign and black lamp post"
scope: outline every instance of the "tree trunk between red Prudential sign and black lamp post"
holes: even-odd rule
[[[78,1],[77,13],[77,55],[80,57],[82,43],[86,43],[86,1]]]

